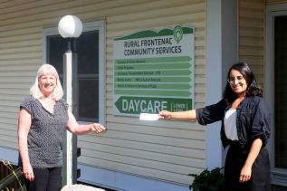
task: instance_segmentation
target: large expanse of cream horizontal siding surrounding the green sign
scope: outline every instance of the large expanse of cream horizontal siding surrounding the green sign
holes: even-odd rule
[[[78,136],[79,162],[93,167],[189,185],[206,167],[206,131],[196,122],[153,123],[112,114],[113,39],[177,24],[195,27],[195,108],[206,100],[205,0],[11,0],[0,3],[0,146],[17,149],[18,106],[43,63],[43,30],[65,14],[106,21],[106,126]]]

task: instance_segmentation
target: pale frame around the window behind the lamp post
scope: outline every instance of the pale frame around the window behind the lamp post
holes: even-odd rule
[[[99,31],[99,123],[105,125],[106,123],[106,89],[105,89],[105,77],[106,77],[106,52],[105,52],[105,22],[93,21],[82,23],[82,32],[89,32],[97,30]],[[57,27],[50,27],[43,29],[43,63],[47,62],[47,42],[46,37],[50,35],[59,34]],[[86,123],[87,121],[79,121],[80,123]]]

